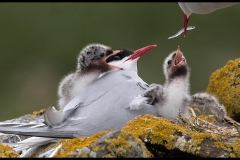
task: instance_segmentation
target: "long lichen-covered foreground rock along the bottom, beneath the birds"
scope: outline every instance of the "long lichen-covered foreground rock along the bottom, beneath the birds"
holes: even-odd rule
[[[31,123],[42,121],[41,116],[29,118],[31,116],[28,115],[11,121],[28,120]],[[63,139],[57,143],[33,147],[21,154],[21,157],[240,157],[239,133],[234,126],[207,119],[202,115],[197,119],[198,122],[194,123],[183,121],[176,124],[162,117],[139,115],[120,131],[106,130],[88,137]],[[3,140],[1,136],[0,139]],[[5,151],[2,157],[19,156],[10,147],[7,150],[9,152]],[[11,154],[8,154],[10,152]]]

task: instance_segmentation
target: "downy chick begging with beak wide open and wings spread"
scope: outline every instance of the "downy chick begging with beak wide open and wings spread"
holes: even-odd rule
[[[190,68],[186,58],[178,47],[177,51],[170,53],[163,63],[165,84],[151,84],[141,95],[134,98],[131,108],[135,109],[142,103],[157,107],[158,114],[170,120],[190,118],[188,106],[209,106],[212,113],[220,120],[226,116],[225,108],[217,98],[209,93],[189,94]]]

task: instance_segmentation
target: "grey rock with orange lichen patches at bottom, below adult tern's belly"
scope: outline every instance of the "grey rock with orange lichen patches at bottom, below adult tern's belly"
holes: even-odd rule
[[[144,143],[129,133],[103,131],[89,137],[64,139],[30,157],[55,158],[110,158],[110,157],[152,157]]]

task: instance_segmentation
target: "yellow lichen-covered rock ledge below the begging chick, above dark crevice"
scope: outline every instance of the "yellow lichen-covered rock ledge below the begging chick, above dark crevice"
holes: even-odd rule
[[[138,116],[129,121],[122,131],[145,142],[164,146],[167,150],[181,150],[199,157],[240,157],[240,139],[217,133],[199,133],[189,127],[152,115]],[[155,156],[156,157],[156,156]]]

